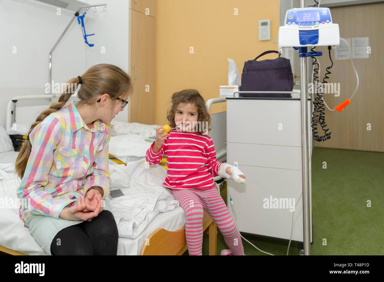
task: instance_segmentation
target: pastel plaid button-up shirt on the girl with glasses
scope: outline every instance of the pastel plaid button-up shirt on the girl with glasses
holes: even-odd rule
[[[111,126],[96,120],[91,129],[74,101],[48,115],[29,135],[32,150],[17,195],[24,222],[35,214],[59,218],[92,186],[109,194],[108,143]]]

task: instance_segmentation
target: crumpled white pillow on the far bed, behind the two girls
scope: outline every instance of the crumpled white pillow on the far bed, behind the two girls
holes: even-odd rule
[[[122,135],[122,134],[139,134],[144,136],[156,135],[156,127],[161,125],[148,125],[148,124],[139,124],[137,122],[122,122],[115,121],[111,122],[112,125],[112,136]]]

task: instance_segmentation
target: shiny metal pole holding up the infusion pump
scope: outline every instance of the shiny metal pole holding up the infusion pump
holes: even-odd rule
[[[305,8],[305,0],[301,0]],[[303,180],[303,246],[304,255],[311,254],[309,154],[308,154],[308,106],[307,106],[307,57],[300,58],[300,101],[301,101],[301,173]]]

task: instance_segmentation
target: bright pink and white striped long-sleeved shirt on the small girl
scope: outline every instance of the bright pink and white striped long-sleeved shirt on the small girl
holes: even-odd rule
[[[166,154],[168,169],[163,185],[177,190],[215,187],[212,175],[217,176],[222,162],[216,161],[212,139],[198,132],[171,130],[168,134],[159,152],[152,150],[153,142],[146,154],[150,165],[160,163]]]

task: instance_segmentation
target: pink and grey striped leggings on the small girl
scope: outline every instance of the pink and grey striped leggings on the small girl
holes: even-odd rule
[[[227,206],[217,188],[207,190],[172,190],[175,200],[179,201],[187,217],[185,238],[189,255],[202,255],[203,208],[208,211],[224,236],[225,243],[234,255],[244,255],[240,233],[230,215]]]

